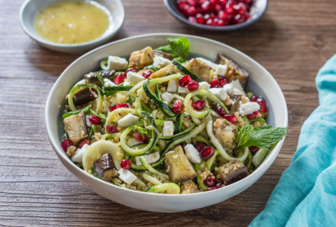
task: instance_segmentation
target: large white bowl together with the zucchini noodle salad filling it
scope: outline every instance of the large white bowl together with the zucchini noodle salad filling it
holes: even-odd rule
[[[272,75],[238,50],[146,34],[74,61],[50,91],[45,122],[59,160],[92,191],[181,212],[257,181],[281,149],[288,112]]]

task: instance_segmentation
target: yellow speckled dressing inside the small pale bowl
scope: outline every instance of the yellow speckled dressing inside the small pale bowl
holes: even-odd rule
[[[101,37],[111,21],[109,11],[94,1],[60,1],[43,8],[35,29],[54,43],[85,43]]]

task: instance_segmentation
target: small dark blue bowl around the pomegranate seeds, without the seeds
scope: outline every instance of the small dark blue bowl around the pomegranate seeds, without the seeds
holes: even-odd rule
[[[254,24],[257,22],[262,15],[264,15],[266,8],[267,8],[267,0],[254,0],[251,6],[250,11],[250,18],[246,20],[246,22],[243,22],[241,24],[232,24],[228,26],[209,26],[205,24],[196,24],[193,22],[190,22],[188,18],[186,18],[183,13],[176,8],[176,0],[164,0],[165,6],[169,13],[171,13],[174,17],[176,17],[181,22],[184,22],[186,24],[189,24],[190,26],[197,27],[199,29],[209,30],[209,31],[232,31],[236,29],[242,29],[244,27],[247,27],[251,24]]]

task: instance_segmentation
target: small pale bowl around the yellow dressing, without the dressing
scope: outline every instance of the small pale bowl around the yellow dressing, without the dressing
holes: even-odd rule
[[[125,10],[120,0],[94,0],[87,1],[92,3],[98,3],[100,6],[104,6],[103,10],[106,10],[111,16],[110,26],[106,32],[99,38],[93,41],[77,44],[62,44],[47,41],[40,36],[34,27],[34,20],[36,14],[50,3],[64,0],[26,0],[22,4],[20,9],[20,24],[25,33],[33,38],[37,43],[50,50],[56,50],[59,52],[84,52],[92,50],[94,47],[98,47],[109,41],[110,38],[115,36],[119,29],[122,27],[125,20]],[[78,1],[78,0],[77,0]],[[85,1],[85,0],[80,0]]]

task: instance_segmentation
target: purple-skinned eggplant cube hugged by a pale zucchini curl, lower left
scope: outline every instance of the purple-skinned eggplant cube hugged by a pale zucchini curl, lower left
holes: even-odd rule
[[[112,177],[116,174],[116,165],[114,164],[112,155],[110,153],[104,154],[99,159],[93,163],[94,171],[97,175],[109,182]]]

